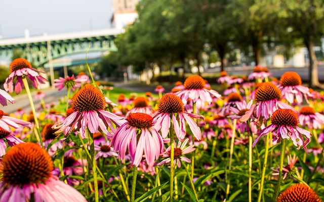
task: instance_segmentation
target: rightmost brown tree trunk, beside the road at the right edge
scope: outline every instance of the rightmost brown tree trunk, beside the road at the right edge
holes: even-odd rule
[[[323,87],[318,81],[318,69],[317,69],[317,59],[314,51],[313,42],[305,41],[305,45],[309,56],[309,68],[308,68],[308,86],[313,87]]]

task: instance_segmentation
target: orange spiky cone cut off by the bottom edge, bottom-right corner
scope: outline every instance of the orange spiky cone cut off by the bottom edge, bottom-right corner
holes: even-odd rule
[[[313,189],[311,189],[306,184],[294,184],[288,187],[285,191],[283,191],[276,202],[320,202],[321,199],[315,193]]]

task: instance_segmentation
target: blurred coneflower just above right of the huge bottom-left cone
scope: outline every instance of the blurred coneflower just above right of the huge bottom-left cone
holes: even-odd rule
[[[43,131],[42,131],[42,138],[43,138],[43,145],[44,148],[47,148],[48,145],[58,137],[58,134],[55,134],[56,130],[52,129],[52,126],[54,124],[48,123],[45,124]],[[62,141],[57,141],[52,146],[48,149],[48,153],[51,157],[53,157],[56,154],[57,149],[62,149],[63,148],[63,142]]]

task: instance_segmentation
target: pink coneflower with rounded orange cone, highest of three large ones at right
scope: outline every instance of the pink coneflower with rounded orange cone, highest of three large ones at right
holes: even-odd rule
[[[300,105],[303,102],[303,95],[306,102],[308,102],[307,96],[311,95],[308,87],[302,86],[302,79],[296,72],[283,74],[278,87],[282,92],[282,98],[287,99],[289,103],[294,103],[294,97],[296,97],[296,101]]]

